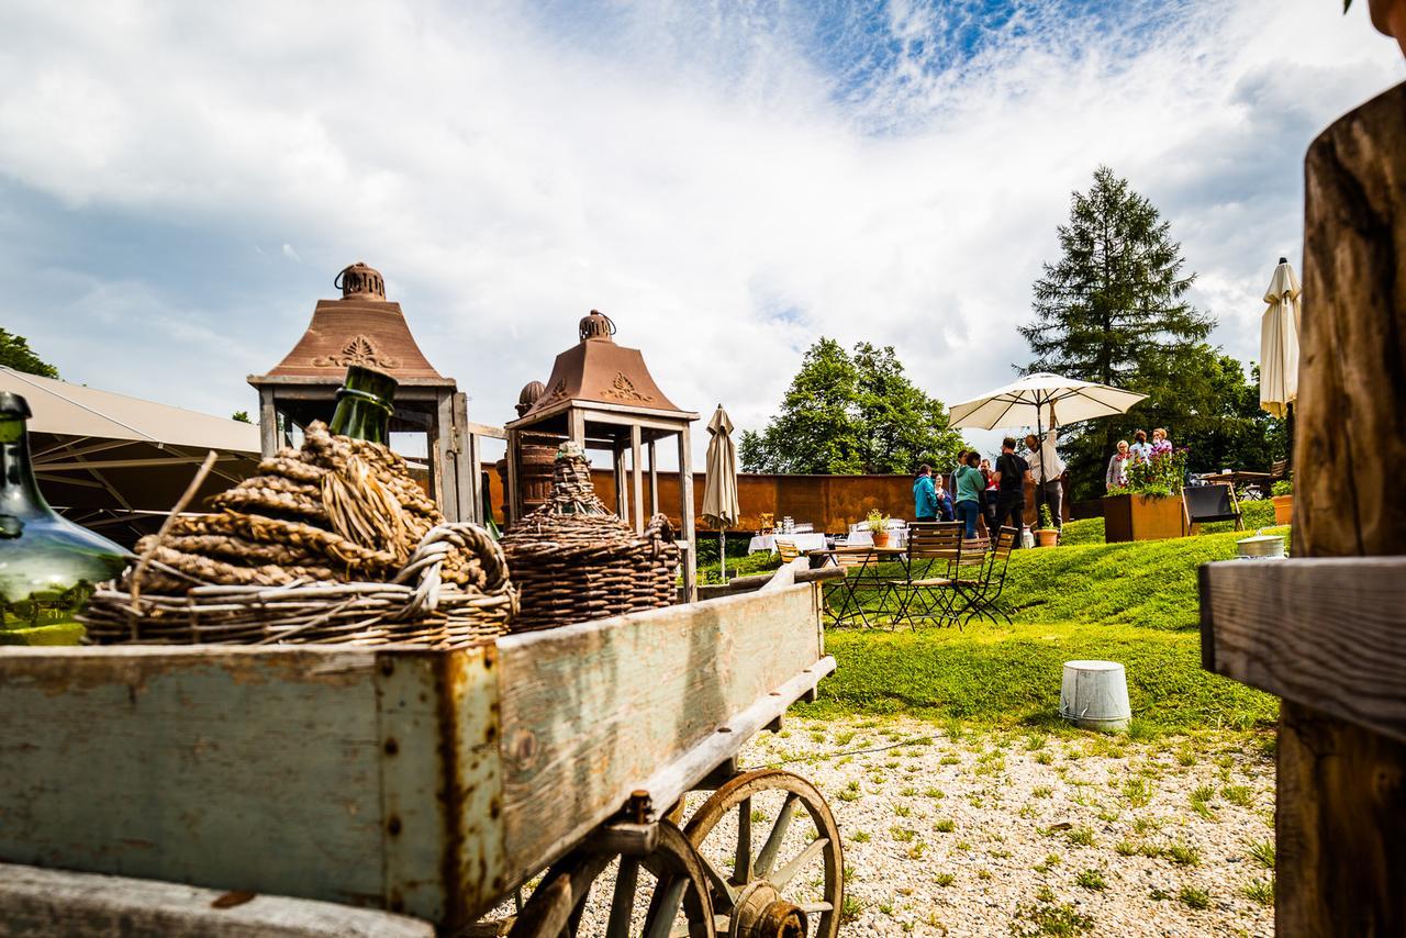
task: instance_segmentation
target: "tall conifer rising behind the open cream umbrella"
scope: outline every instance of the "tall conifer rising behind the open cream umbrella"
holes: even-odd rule
[[[1187,430],[1208,412],[1218,353],[1205,343],[1213,321],[1185,300],[1195,274],[1182,271],[1170,222],[1128,180],[1107,166],[1094,170],[1092,187],[1073,195],[1059,242],[1063,256],[1045,264],[1033,285],[1035,319],[1021,328],[1035,356],[1025,371],[1149,395],[1126,419],[1071,428],[1074,495],[1090,496],[1101,494],[1108,454],[1133,426]]]

